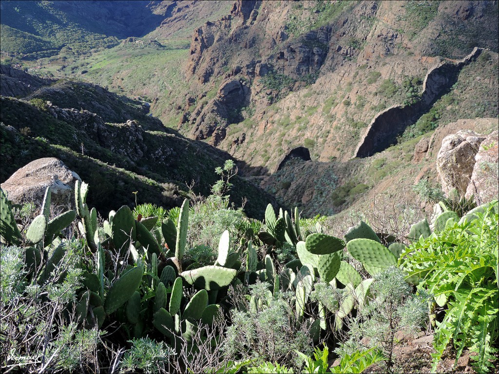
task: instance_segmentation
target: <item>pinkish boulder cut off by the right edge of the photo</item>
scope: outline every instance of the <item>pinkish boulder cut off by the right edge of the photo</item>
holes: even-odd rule
[[[499,131],[490,134],[475,156],[475,166],[466,196],[475,196],[478,204],[499,198]]]

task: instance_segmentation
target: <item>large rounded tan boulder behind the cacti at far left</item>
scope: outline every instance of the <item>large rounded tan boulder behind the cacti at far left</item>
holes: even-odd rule
[[[62,161],[56,158],[44,158],[30,162],[16,171],[1,184],[9,200],[23,204],[34,202],[41,205],[45,189],[50,187],[52,205],[73,205],[73,190],[80,177],[69,170]]]

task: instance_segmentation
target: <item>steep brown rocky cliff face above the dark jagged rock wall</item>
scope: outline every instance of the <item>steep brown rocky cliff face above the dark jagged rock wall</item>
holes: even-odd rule
[[[418,6],[393,1],[236,2],[230,15],[195,31],[186,62],[187,77],[198,87],[223,87],[236,80],[245,84],[238,103],[231,104],[235,113],[221,105],[221,89],[214,99],[203,100],[203,94],[188,98],[182,131],[207,139],[252,166],[274,170],[276,160],[305,139],[314,141],[311,154],[320,161],[355,157],[361,147],[358,140],[366,133],[363,127],[380,109],[393,106],[388,116],[383,115],[387,126],[402,119],[403,125],[373,152],[393,144],[436,95],[449,88],[451,71],[438,75],[435,70],[434,76],[428,75],[428,88],[421,84],[435,64],[443,70],[452,64],[433,57],[439,51],[436,45],[448,38],[443,30],[454,22],[450,14],[461,22],[460,32],[475,32],[480,20],[491,25],[491,35],[497,34],[495,18],[489,14],[496,3],[441,1]],[[435,43],[428,41],[429,34]],[[494,48],[491,35],[484,34],[475,43]],[[454,47],[446,56],[464,57],[472,51],[473,44],[456,40],[447,43]],[[236,51],[240,46],[242,50]],[[407,85],[408,79],[417,83]],[[415,106],[416,102],[425,105]],[[406,110],[397,116],[398,107]],[[258,149],[260,139],[273,151]]]

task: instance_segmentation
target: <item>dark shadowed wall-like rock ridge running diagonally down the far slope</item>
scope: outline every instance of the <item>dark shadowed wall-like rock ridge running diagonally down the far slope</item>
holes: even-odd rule
[[[459,71],[470,61],[475,60],[481,48],[475,49],[465,58],[456,62],[445,61],[430,69],[423,82],[421,99],[411,105],[392,106],[378,114],[367,127],[355,157],[369,157],[396,143],[397,136],[416,123],[428,111],[434,100],[457,80]]]

